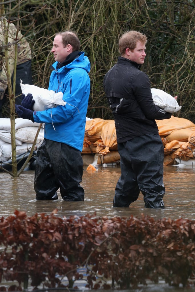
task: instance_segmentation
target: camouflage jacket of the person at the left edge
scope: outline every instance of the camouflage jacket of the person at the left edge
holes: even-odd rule
[[[13,23],[6,23],[6,28],[4,30],[3,18],[0,18],[0,88],[6,90],[8,86],[7,75],[6,75],[6,64],[5,64],[5,35],[7,34],[8,27],[8,55],[9,55],[9,65],[10,73],[13,74],[14,62],[15,62],[15,37],[17,29]],[[31,60],[31,48],[21,32],[18,32],[19,42],[18,45],[18,55],[17,55],[17,65],[23,64],[28,60]],[[21,77],[22,79],[22,77]]]

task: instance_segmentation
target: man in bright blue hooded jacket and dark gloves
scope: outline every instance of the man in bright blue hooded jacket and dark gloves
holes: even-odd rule
[[[82,147],[90,92],[90,62],[79,52],[80,41],[71,31],[57,33],[51,52],[49,90],[63,93],[65,105],[33,111],[32,94],[16,105],[23,119],[44,123],[44,140],[37,151],[34,190],[37,200],[84,201]]]

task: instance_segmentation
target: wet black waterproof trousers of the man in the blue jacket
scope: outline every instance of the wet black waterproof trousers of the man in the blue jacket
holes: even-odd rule
[[[34,190],[37,200],[84,201],[81,152],[64,143],[44,139],[37,151]]]

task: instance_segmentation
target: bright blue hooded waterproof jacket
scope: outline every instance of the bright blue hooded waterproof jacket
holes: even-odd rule
[[[45,123],[44,138],[65,143],[82,151],[90,92],[90,62],[84,52],[70,64],[56,69],[52,66],[49,90],[63,93],[66,105],[34,112],[34,122]]]

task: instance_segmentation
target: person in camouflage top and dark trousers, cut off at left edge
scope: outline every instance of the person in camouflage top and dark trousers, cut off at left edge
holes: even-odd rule
[[[8,30],[7,30],[8,29]],[[3,18],[0,17],[0,117],[6,117],[3,114],[3,106],[8,96],[8,78],[5,62],[5,48],[8,46],[9,66],[11,75],[11,85],[13,88],[13,71],[15,63],[15,38],[17,29],[12,23],[4,26]],[[8,34],[8,43],[5,44],[5,36]],[[23,84],[32,84],[31,71],[31,48],[20,31],[17,39],[17,64],[16,64],[16,81],[15,81],[15,103],[21,105],[22,91],[20,88],[20,79]]]

